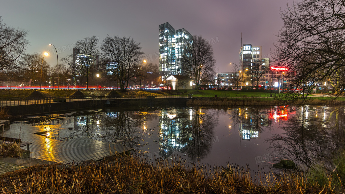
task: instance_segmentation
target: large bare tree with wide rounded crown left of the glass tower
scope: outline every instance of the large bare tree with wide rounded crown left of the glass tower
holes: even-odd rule
[[[136,76],[134,70],[142,64],[144,53],[140,49],[140,43],[130,37],[107,36],[101,44],[103,55],[110,61],[108,71],[119,81],[121,91],[126,91]]]

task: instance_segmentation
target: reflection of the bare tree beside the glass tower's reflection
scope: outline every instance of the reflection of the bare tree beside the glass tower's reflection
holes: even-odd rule
[[[205,114],[200,109],[196,110],[190,122],[191,125],[183,130],[190,137],[186,142],[186,154],[191,161],[200,161],[212,148],[217,119],[215,115]]]

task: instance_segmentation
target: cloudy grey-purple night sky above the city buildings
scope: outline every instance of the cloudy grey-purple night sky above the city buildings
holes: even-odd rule
[[[262,46],[263,57],[271,54],[275,35],[283,25],[280,9],[285,9],[287,3],[287,0],[2,0],[0,15],[8,26],[29,31],[29,54],[53,49],[51,43],[58,49],[60,59],[72,53],[77,40],[88,36],[96,35],[100,41],[107,35],[130,36],[141,42],[146,58],[157,65],[159,25],[169,22],[175,30],[185,28],[211,43],[213,39],[216,71],[229,72],[233,71],[230,62],[239,63],[241,32],[242,44]],[[51,66],[57,61],[54,54],[45,59]]]

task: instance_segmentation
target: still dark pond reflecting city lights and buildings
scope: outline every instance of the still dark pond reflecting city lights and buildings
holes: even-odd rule
[[[251,169],[291,159],[299,168],[323,163],[344,148],[344,108],[160,107],[71,111],[22,118],[22,125],[45,129],[59,140],[89,136],[124,144],[154,157],[182,157],[209,165],[238,164]],[[16,122],[14,122],[16,123]],[[17,121],[19,123],[19,121]]]

